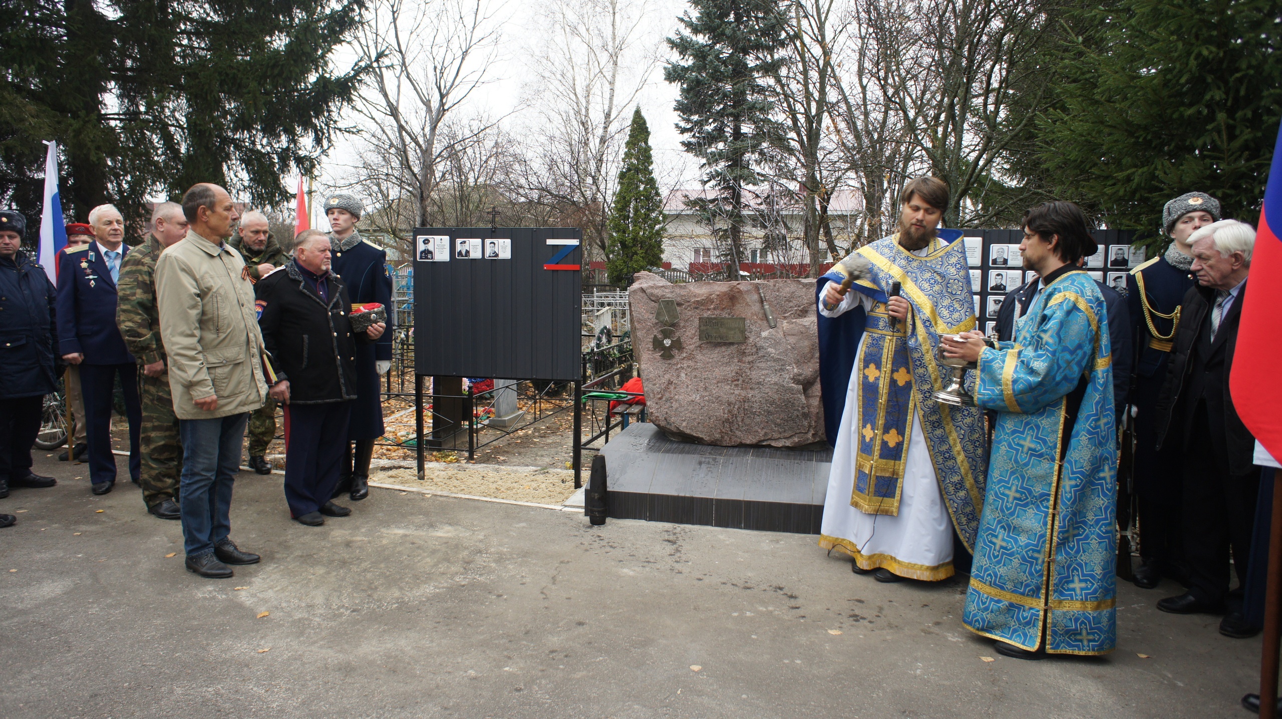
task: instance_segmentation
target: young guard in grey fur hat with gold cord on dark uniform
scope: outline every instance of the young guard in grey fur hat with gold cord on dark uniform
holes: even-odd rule
[[[1172,238],[1160,258],[1154,258],[1127,276],[1131,333],[1135,337],[1135,372],[1131,410],[1135,418],[1135,492],[1140,509],[1140,558],[1135,584],[1156,587],[1161,577],[1185,582],[1183,534],[1181,532],[1179,451],[1159,452],[1154,411],[1167,378],[1181,302],[1194,286],[1190,278],[1192,247],[1188,236],[1219,219],[1219,201],[1205,192],[1188,192],[1167,202],[1161,228]],[[1114,372],[1117,372],[1114,369]]]

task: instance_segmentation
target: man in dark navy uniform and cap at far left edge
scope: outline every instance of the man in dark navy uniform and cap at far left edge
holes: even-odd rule
[[[58,332],[54,285],[21,250],[26,233],[27,218],[0,210],[0,497],[9,496],[9,487],[58,483],[31,472],[45,395],[58,391]],[[14,522],[0,514],[0,527]]]

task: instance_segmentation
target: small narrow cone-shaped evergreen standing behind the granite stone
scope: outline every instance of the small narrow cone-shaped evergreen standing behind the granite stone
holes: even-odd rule
[[[632,113],[608,231],[610,285],[631,285],[633,274],[663,263],[663,197],[654,179],[650,127],[641,108]]]

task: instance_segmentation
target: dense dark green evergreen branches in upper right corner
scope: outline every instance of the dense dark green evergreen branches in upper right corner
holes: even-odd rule
[[[1160,242],[1194,190],[1255,222],[1282,115],[1277,0],[1082,4],[1038,123],[1044,182]]]

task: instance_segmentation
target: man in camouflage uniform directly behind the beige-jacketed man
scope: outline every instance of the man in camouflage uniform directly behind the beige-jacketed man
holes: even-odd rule
[[[156,311],[156,260],[165,247],[187,235],[187,218],[176,202],[160,202],[151,215],[151,232],[121,263],[117,282],[119,301],[115,324],[138,363],[138,396],[142,400],[142,501],[160,519],[178,519],[178,478],[182,474],[182,443],[178,418],[173,414],[160,315]]]

